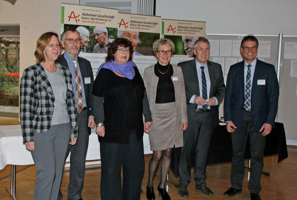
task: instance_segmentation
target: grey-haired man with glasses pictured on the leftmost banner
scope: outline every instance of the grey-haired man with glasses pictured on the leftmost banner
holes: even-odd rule
[[[93,53],[107,53],[109,45],[114,41],[108,36],[107,28],[96,26],[94,28],[94,35],[97,44],[94,47]]]

